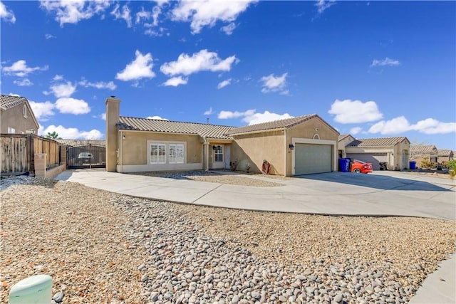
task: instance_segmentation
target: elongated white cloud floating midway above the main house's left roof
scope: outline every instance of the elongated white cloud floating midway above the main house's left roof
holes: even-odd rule
[[[162,73],[166,75],[190,75],[202,70],[211,72],[231,70],[233,63],[239,62],[236,56],[229,56],[226,59],[220,59],[217,53],[201,50],[189,56],[185,53],[180,54],[177,61],[164,63],[160,66]]]

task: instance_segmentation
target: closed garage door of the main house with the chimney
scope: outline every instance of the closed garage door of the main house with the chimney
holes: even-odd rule
[[[311,174],[332,171],[332,146],[299,144],[294,147],[294,174]]]

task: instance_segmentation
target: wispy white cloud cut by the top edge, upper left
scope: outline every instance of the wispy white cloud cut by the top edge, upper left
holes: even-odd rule
[[[100,14],[110,6],[109,0],[78,0],[78,1],[40,1],[42,9],[48,13],[56,14],[56,21],[63,26],[65,23],[78,23],[90,19],[95,14]]]

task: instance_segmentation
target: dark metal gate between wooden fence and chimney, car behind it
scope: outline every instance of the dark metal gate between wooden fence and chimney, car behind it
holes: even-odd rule
[[[98,145],[81,145],[66,148],[67,169],[106,167],[106,148]]]

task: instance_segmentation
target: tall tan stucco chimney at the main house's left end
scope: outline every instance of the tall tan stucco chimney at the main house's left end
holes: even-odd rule
[[[118,162],[118,130],[120,121],[120,99],[106,98],[106,171],[115,172]]]

